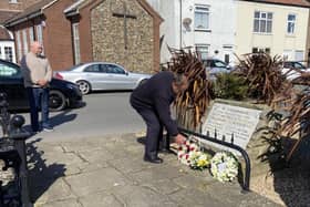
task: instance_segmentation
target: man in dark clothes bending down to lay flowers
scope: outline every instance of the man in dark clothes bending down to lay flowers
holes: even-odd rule
[[[178,133],[177,124],[170,117],[170,104],[187,86],[187,77],[184,74],[165,71],[155,74],[133,91],[131,104],[147,126],[144,161],[163,163],[158,157],[163,126],[175,137],[177,144],[185,141],[185,137]]]

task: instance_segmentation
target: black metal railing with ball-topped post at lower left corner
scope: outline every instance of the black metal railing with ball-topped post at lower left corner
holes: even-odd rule
[[[13,185],[3,189],[0,180],[0,206],[33,206],[29,197],[25,139],[30,133],[22,130],[24,118],[21,115],[11,117],[8,112],[7,95],[0,93],[0,126],[3,137],[0,138],[0,159],[4,162],[3,170],[14,169]],[[13,190],[11,189],[13,188]]]

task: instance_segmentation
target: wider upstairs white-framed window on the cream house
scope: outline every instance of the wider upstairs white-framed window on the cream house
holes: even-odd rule
[[[259,17],[257,18],[256,14],[259,14]],[[266,17],[262,17],[262,15]],[[269,18],[269,14],[271,15],[271,18]],[[258,29],[256,31],[256,24],[258,22]],[[270,31],[268,31],[268,22],[270,22]],[[265,25],[261,25],[262,23],[265,23]],[[258,34],[272,34],[272,24],[273,24],[273,12],[271,11],[258,11],[256,10],[254,12],[254,33],[258,33]],[[265,29],[265,31],[262,30],[262,28]]]

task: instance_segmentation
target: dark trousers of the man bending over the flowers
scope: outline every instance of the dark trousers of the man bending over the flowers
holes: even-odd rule
[[[159,142],[163,139],[163,124],[158,115],[148,108],[135,108],[146,124],[145,155],[147,158],[156,158]]]

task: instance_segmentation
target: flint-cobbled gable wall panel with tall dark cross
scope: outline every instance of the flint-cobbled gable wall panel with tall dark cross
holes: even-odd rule
[[[126,1],[127,49],[124,44],[124,19],[113,17],[123,13],[122,0],[106,0],[92,10],[91,31],[94,61],[114,62],[128,71],[151,73],[154,70],[153,18],[137,1]]]

